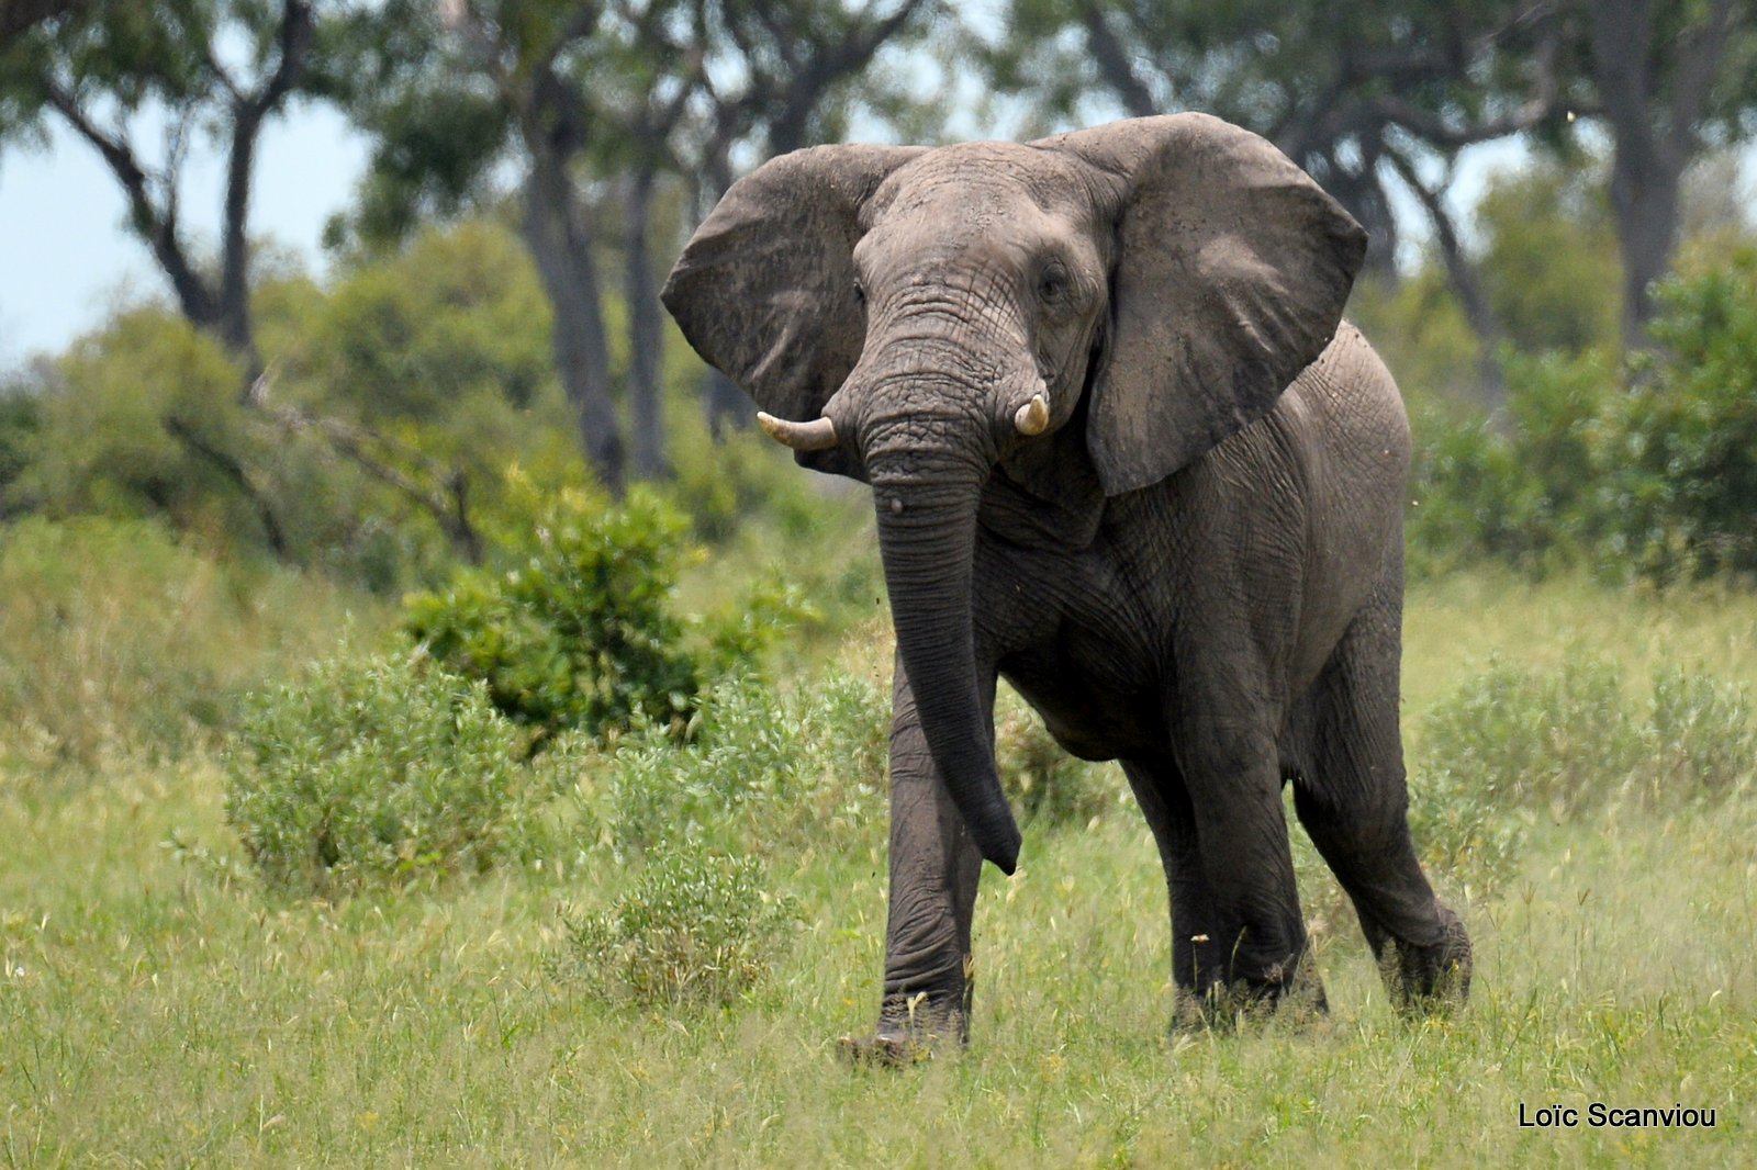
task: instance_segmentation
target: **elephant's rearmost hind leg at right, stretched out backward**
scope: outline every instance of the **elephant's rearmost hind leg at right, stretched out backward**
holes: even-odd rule
[[[1393,996],[1428,1007],[1469,993],[1471,938],[1434,896],[1409,836],[1397,662],[1397,610],[1369,610],[1309,697],[1311,757],[1293,805],[1353,899]]]

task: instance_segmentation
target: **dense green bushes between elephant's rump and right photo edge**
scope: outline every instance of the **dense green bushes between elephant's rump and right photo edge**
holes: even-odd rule
[[[1602,350],[1509,355],[1500,423],[1416,413],[1411,564],[1757,576],[1757,249],[1660,292],[1623,386]]]

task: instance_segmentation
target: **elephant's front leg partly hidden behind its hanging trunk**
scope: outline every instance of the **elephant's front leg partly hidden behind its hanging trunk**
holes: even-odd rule
[[[986,676],[993,713],[994,682]],[[857,1061],[910,1061],[936,1042],[970,1038],[972,956],[982,854],[942,784],[901,661],[891,719],[891,910],[878,1028],[847,1038]]]

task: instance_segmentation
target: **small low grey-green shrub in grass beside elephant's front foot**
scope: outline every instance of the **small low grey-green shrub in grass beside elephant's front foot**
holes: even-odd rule
[[[799,922],[750,857],[685,850],[648,857],[617,903],[568,922],[582,986],[640,1008],[727,1007],[782,952]]]

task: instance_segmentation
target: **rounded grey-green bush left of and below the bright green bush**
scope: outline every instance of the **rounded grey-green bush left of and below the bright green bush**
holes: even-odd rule
[[[343,654],[251,699],[227,820],[283,892],[480,873],[531,849],[518,741],[483,683]]]

